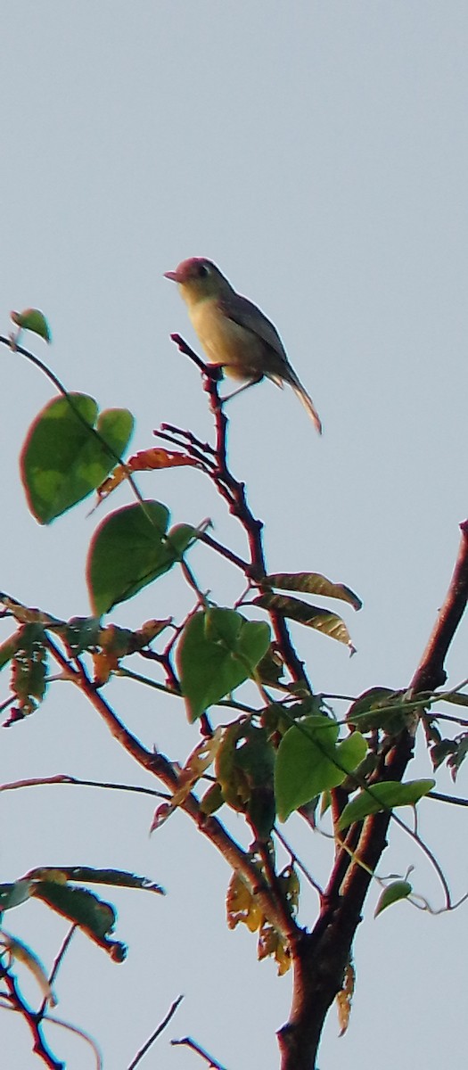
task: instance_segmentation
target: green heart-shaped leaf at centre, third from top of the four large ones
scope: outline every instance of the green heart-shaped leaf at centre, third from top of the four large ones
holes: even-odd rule
[[[270,629],[231,609],[196,613],[177,646],[177,668],[190,722],[253,675],[268,649]]]

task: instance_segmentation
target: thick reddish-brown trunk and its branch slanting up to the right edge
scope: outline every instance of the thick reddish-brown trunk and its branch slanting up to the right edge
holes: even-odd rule
[[[434,691],[444,683],[444,659],[468,600],[468,521],[453,576],[427,646],[411,679],[411,691]],[[379,779],[402,780],[412,758],[414,736],[402,732],[388,751]],[[387,846],[390,812],[352,826],[346,843],[371,872]],[[281,1070],[314,1070],[325,1018],[343,982],[371,873],[347,852],[338,853],[323,906],[311,933],[302,932],[293,948],[294,992],[290,1020],[279,1031]]]

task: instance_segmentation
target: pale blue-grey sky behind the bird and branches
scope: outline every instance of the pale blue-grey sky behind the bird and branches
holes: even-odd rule
[[[317,691],[405,687],[468,514],[467,39],[468,7],[457,0],[16,0],[3,12],[1,333],[11,309],[42,308],[53,345],[31,348],[67,388],[103,409],[129,408],[134,450],[153,444],[162,421],[210,433],[197,371],[169,339],[177,331],[196,341],[165,271],[207,256],[275,321],[324,437],[291,391],[262,384],[230,408],[231,462],[265,522],[270,570],[319,571],[363,599],[359,614],[343,613],[352,659],[294,630]],[[28,513],[17,456],[51,387],[7,350],[1,358],[0,586],[58,616],[85,615],[98,515],[87,517],[87,502],[40,528]],[[200,474],[146,475],[141,488],[176,522],[212,517],[215,535],[241,552]],[[109,509],[125,502],[121,492]],[[237,596],[231,569],[201,550],[191,562],[221,605]],[[138,627],[186,608],[171,575],[110,618]],[[468,676],[467,638],[463,622],[451,685]],[[146,746],[172,759],[194,746],[174,701],[119,681],[106,693]],[[158,786],[65,684],[2,734],[1,781],[54,773]],[[421,742],[408,777],[430,775]],[[446,773],[438,785],[454,790]],[[464,770],[456,790],[467,794]],[[125,965],[80,936],[63,965],[58,1013],[99,1040],[106,1067],[125,1070],[181,992],[142,1067],[201,1066],[169,1046],[186,1034],[229,1070],[278,1066],[290,979],[258,964],[247,931],[228,931],[228,868],[187,819],[149,838],[151,801],[71,788],[11,793],[2,806],[2,881],[36,865],[113,866],[168,890],[163,901],[109,897],[116,936],[129,945]],[[426,800],[420,821],[456,899],[467,889],[463,811]],[[238,822],[230,828],[241,837]],[[324,880],[328,843],[296,819],[286,835]],[[417,890],[442,905],[425,859],[392,831],[380,872],[410,865]],[[376,1053],[379,1070],[439,1070],[442,1043],[457,1070],[466,910],[434,918],[397,904],[374,921],[377,893],[356,939],[349,1030],[338,1038],[332,1009],[321,1070],[361,1070]],[[315,907],[306,889],[305,924]],[[60,919],[31,903],[5,927],[50,965]],[[49,1036],[67,1070],[92,1066],[82,1042]],[[40,1065],[13,1014],[3,1012],[1,1037],[5,1065]]]

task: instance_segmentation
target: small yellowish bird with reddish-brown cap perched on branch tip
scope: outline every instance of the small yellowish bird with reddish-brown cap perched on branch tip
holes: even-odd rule
[[[277,386],[288,383],[322,434],[315,406],[292,368],[278,331],[260,308],[236,293],[204,257],[183,260],[165,274],[178,284],[208,361],[232,379],[246,380],[245,386],[260,383],[264,376]]]

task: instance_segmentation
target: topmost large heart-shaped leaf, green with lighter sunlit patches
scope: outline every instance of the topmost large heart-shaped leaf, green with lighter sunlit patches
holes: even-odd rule
[[[38,523],[50,523],[103,483],[126,449],[132,427],[127,409],[97,416],[96,401],[85,394],[53,398],[45,406],[20,455],[28,505]]]

